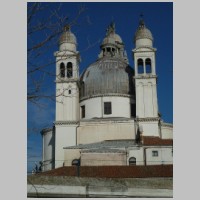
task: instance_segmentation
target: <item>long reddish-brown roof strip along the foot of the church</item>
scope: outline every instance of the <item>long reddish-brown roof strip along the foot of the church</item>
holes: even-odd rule
[[[173,177],[173,165],[61,167],[38,175],[100,178]]]

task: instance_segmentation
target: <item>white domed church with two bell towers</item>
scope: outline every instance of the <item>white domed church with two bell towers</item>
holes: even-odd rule
[[[129,65],[111,23],[98,58],[81,75],[69,26],[59,38],[54,126],[41,131],[43,171],[62,166],[173,164],[173,125],[158,110],[156,48],[140,19]]]

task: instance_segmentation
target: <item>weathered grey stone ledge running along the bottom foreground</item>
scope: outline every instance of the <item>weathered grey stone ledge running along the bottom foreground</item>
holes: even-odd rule
[[[97,179],[54,177],[54,183],[29,177],[28,197],[173,197],[172,179]],[[44,177],[43,177],[44,178]],[[51,177],[52,178],[52,177]],[[46,177],[46,179],[50,179]],[[58,184],[57,184],[58,182]]]

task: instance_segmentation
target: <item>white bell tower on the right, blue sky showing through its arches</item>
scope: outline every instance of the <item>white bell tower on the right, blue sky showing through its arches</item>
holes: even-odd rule
[[[153,47],[153,36],[143,18],[139,21],[134,43],[135,49],[132,52],[135,66],[136,119],[143,126],[144,135],[158,136],[156,49]]]

